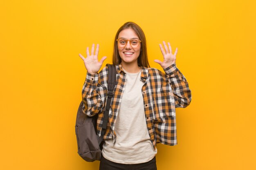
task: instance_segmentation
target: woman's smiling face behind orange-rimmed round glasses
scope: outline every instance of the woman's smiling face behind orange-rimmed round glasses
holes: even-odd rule
[[[136,33],[133,31],[133,29],[122,30],[118,35],[118,39],[119,38],[124,38],[126,40],[131,40],[134,38],[137,38],[136,40],[139,39],[139,37],[136,35]],[[118,52],[121,57],[122,63],[126,63],[126,64],[135,64],[136,63],[137,64],[140,49],[141,49],[140,43],[137,47],[131,46],[130,41],[128,41],[125,46],[120,46],[118,44]]]

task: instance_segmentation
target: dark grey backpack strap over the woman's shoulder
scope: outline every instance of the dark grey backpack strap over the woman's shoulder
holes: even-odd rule
[[[105,130],[107,129],[108,114],[109,114],[111,99],[114,95],[114,88],[117,83],[117,70],[115,65],[106,64],[106,66],[108,66],[108,97],[107,97],[107,104],[105,106],[105,111],[104,111],[104,119],[102,123],[101,135],[104,135]]]

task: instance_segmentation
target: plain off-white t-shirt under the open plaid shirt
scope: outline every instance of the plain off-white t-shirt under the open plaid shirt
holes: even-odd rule
[[[124,70],[124,68],[123,68]],[[151,144],[146,126],[144,103],[140,80],[141,71],[126,73],[126,85],[121,106],[115,124],[116,143],[106,140],[103,144],[102,155],[106,159],[124,164],[144,163],[157,154]]]

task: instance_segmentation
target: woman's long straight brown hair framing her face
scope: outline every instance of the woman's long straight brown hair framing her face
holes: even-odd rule
[[[132,29],[136,33],[136,35],[139,37],[139,40],[141,40],[141,49],[138,57],[138,66],[150,67],[148,63],[148,53],[147,53],[145,34],[142,31],[142,29],[139,27],[139,25],[135,24],[134,22],[124,23],[124,25],[122,25],[117,31],[117,34],[115,36],[114,50],[113,50],[113,57],[112,57],[113,64],[118,65],[121,63],[121,57],[118,52],[118,46],[117,46],[116,40],[118,38],[119,33],[124,29]]]

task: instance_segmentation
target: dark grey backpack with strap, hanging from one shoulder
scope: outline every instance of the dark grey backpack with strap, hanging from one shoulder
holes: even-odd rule
[[[76,141],[78,154],[85,161],[93,162],[101,159],[101,150],[103,135],[105,134],[108,124],[108,113],[114,88],[116,84],[116,67],[113,64],[108,65],[108,97],[104,110],[104,119],[101,130],[101,137],[97,135],[97,118],[98,114],[92,117],[83,113],[83,101],[81,101],[76,115]]]

